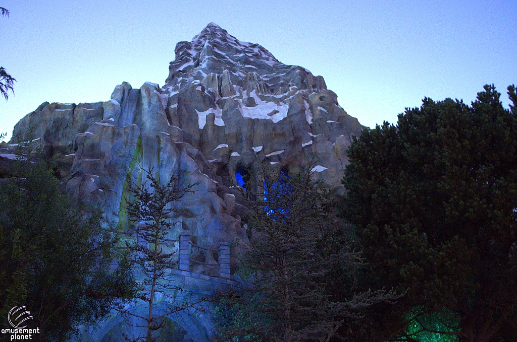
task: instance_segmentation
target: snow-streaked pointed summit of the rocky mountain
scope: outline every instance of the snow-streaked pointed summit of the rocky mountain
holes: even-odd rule
[[[177,43],[175,54],[164,86],[169,91],[184,86],[189,77],[202,80],[211,73],[222,75],[225,70],[237,86],[242,86],[248,74],[256,74],[264,94],[282,95],[290,84],[298,89],[327,89],[323,77],[314,77],[305,68],[287,66],[261,45],[241,42],[215,23],[208,24],[192,41]]]

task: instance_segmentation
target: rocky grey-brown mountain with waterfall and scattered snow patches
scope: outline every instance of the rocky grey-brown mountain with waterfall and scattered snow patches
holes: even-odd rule
[[[129,229],[129,183],[141,180],[142,170],[163,179],[179,171],[185,183],[200,184],[178,204],[176,230],[190,231],[193,243],[208,249],[249,242],[235,185],[260,163],[296,174],[316,158],[316,176],[343,192],[346,149],[362,128],[323,77],[287,66],[214,23],[179,42],[175,54],[161,88],[123,83],[106,102],[41,104],[14,127],[2,154],[34,126],[31,140],[58,157],[70,194],[102,203],[121,231]],[[201,263],[191,271],[217,275],[212,253],[200,249],[196,257]]]

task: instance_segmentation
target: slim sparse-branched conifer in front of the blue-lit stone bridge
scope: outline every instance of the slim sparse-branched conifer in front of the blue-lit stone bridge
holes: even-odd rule
[[[142,183],[140,187],[132,186],[130,192],[133,198],[126,199],[130,219],[141,223],[135,232],[136,241],[126,242],[126,245],[134,255],[134,265],[142,273],[142,277],[134,281],[137,289],[134,298],[147,303],[148,311],[142,316],[120,307],[116,310],[145,322],[142,327],[147,329],[146,335],[125,336],[128,341],[155,342],[164,327],[164,317],[192,307],[203,310],[199,304],[206,300],[204,297],[193,299],[189,292],[173,284],[170,269],[177,263],[175,253],[168,252],[171,247],[168,236],[174,226],[173,215],[179,213],[176,201],[193,192],[192,188],[199,183],[182,186],[179,175],[172,175],[163,184],[150,171]],[[165,306],[162,312],[156,310],[157,302]]]

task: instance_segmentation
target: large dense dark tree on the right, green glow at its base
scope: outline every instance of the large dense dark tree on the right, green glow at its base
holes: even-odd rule
[[[369,263],[362,286],[405,292],[370,313],[370,338],[420,340],[436,322],[464,341],[517,336],[513,86],[508,94],[510,110],[493,86],[470,106],[425,98],[348,149],[344,214]]]

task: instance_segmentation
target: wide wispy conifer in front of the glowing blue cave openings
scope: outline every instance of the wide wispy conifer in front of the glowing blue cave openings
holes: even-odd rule
[[[332,269],[351,270],[360,259],[342,239],[328,188],[311,168],[293,177],[265,169],[252,175],[264,184],[247,192],[254,239],[241,273],[252,286],[222,296],[216,340],[328,341],[364,307],[393,298],[384,291],[347,291],[350,297],[339,301],[331,295],[332,287],[349,288],[330,278]]]

